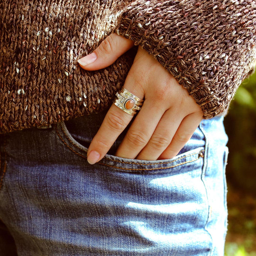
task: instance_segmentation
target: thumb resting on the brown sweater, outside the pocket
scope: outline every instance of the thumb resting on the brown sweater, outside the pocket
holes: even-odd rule
[[[106,68],[133,46],[132,40],[112,33],[101,42],[94,52],[79,59],[78,63],[85,70]]]

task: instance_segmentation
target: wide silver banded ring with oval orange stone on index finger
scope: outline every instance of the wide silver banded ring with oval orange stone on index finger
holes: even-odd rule
[[[116,93],[113,103],[124,112],[134,116],[142,107],[143,101],[123,87]]]

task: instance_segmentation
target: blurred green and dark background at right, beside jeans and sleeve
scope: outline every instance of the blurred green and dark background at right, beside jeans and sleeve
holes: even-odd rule
[[[256,256],[256,73],[239,87],[224,125],[229,137],[225,256]]]

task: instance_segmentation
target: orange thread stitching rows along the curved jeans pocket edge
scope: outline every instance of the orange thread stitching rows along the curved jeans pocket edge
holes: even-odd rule
[[[76,155],[79,155],[79,156],[81,156],[82,158],[87,159],[86,156],[81,155],[81,154],[77,153],[75,150],[73,150],[72,148],[70,148],[70,146],[69,146],[68,144],[66,144],[66,142],[63,140],[63,138],[60,136],[58,130],[57,130],[56,128],[55,128],[55,130],[56,130],[56,133],[58,134],[59,138],[62,140],[62,142],[63,142],[71,151],[73,151]],[[66,135],[66,134],[65,134],[65,135]],[[71,143],[72,143],[72,142],[71,142]],[[195,155],[195,154],[192,154],[192,155]],[[184,157],[182,157],[182,158],[184,158]],[[174,166],[160,167],[160,168],[151,168],[151,169],[128,169],[128,168],[122,168],[122,167],[107,165],[107,164],[104,164],[104,163],[101,163],[101,162],[97,162],[97,164],[101,164],[101,165],[105,165],[105,166],[108,166],[108,167],[111,167],[111,168],[116,168],[116,169],[121,169],[121,170],[128,170],[128,171],[143,171],[143,170],[151,171],[151,170],[171,169],[171,168],[174,168],[174,167],[183,165],[183,164],[187,164],[187,163],[190,163],[190,162],[194,162],[194,161],[196,161],[196,160],[198,160],[198,159],[199,159],[199,157],[198,157],[197,159],[194,159],[194,160],[191,160],[191,161],[186,161],[186,162],[183,162],[183,163],[174,165]],[[107,160],[109,160],[109,159],[107,159]],[[117,161],[117,160],[111,160],[111,161]],[[175,160],[175,161],[176,161],[176,160]],[[119,161],[119,162],[121,162],[121,161]],[[172,162],[174,162],[174,161],[172,161]],[[121,163],[123,163],[123,162],[121,162]],[[124,162],[124,163],[126,163],[126,164],[133,164],[133,163],[129,163],[129,162]],[[169,163],[171,163],[171,162],[167,162],[167,164],[169,164]],[[138,163],[135,163],[135,164],[139,165]],[[158,163],[157,163],[157,164],[158,164]],[[159,163],[159,164],[162,164],[162,163]],[[144,165],[145,165],[145,164],[144,164]],[[150,165],[150,164],[146,164],[146,165]]]

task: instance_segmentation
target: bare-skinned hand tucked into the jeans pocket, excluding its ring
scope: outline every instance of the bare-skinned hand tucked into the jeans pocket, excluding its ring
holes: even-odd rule
[[[112,33],[86,56],[87,60],[85,57],[79,60],[80,66],[86,70],[105,68],[133,45],[133,41]],[[90,58],[92,62],[86,64]],[[142,160],[176,156],[202,120],[200,106],[174,76],[140,46],[124,88],[145,101],[116,156]],[[106,155],[131,120],[132,116],[112,104],[89,146],[87,160],[90,164]]]

